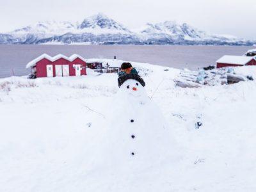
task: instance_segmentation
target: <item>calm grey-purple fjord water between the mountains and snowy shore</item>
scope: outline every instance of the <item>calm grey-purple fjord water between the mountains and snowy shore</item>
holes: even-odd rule
[[[242,55],[248,46],[191,45],[0,45],[0,77],[29,74],[26,64],[47,53],[80,54],[84,58],[113,58],[166,67],[196,69],[214,65],[224,54]]]

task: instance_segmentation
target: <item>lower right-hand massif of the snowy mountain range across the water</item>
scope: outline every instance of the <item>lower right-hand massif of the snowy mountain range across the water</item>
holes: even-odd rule
[[[165,42],[169,44],[243,44],[245,42],[234,36],[209,35],[186,23],[177,24],[175,21],[148,23],[141,29],[140,34],[147,44],[165,44]]]

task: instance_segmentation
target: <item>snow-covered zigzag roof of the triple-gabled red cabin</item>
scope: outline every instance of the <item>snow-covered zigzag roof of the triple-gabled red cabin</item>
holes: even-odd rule
[[[65,60],[68,60],[68,61],[74,61],[76,58],[80,58],[81,60],[83,60],[84,62],[86,62],[86,60],[82,57],[82,56],[79,56],[78,54],[72,54],[72,56],[70,56],[69,58],[63,54],[57,54],[56,56],[49,56],[49,54],[42,54],[40,56],[38,56],[37,58],[35,58],[34,60],[30,61],[27,65],[26,65],[26,68],[29,68],[29,67],[33,67],[36,65],[36,63],[42,59],[47,59],[49,61],[56,61],[56,60],[59,60],[60,58],[63,58]]]

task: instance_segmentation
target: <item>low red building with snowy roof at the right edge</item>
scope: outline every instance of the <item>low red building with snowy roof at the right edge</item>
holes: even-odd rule
[[[254,57],[225,55],[216,61],[216,68],[256,65]]]

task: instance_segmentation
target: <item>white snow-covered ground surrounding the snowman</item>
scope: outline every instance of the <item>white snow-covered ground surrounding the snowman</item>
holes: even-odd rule
[[[116,74],[8,77],[0,79],[0,191],[255,191],[256,82],[180,88],[173,81],[180,70],[132,64],[172,131],[175,145],[163,145],[172,158],[107,163],[116,151],[105,152],[106,143],[119,145],[123,132],[106,142],[105,125],[127,107],[111,108]],[[254,79],[255,69],[235,68]],[[132,115],[155,111],[142,113]]]

